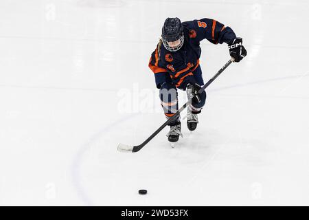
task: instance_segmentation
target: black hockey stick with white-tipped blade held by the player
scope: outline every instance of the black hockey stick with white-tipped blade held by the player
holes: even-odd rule
[[[229,62],[227,62],[217,73],[216,75],[214,75],[205,85],[203,85],[203,87],[201,87],[200,90],[198,90],[198,94],[201,94],[225,69],[227,69],[227,67],[233,62],[233,58],[231,58],[229,60]],[[196,94],[197,95],[197,94]],[[196,96],[195,95],[195,96]],[[194,98],[195,96],[193,96],[192,98]],[[191,98],[191,99],[192,99]],[[134,153],[139,151],[141,148],[143,148],[148,142],[150,142],[150,140],[152,140],[153,137],[155,137],[162,129],[165,128],[165,126],[167,126],[170,121],[174,120],[178,115],[180,115],[181,111],[183,111],[183,109],[185,109],[185,107],[187,107],[188,104],[190,104],[191,100],[188,100],[185,104],[183,104],[183,107],[181,107],[181,109],[179,109],[178,111],[176,111],[176,113],[169,118],[166,122],[164,122],[164,124],[162,124],[159,129],[157,129],[157,131],[155,131],[154,133],[152,133],[152,135],[150,135],[143,143],[137,145],[137,146],[132,146],[132,145],[127,145],[127,144],[118,144],[118,151],[121,152],[127,152],[127,153]]]

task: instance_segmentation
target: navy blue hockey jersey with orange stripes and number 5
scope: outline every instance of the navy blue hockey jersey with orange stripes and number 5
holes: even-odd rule
[[[182,24],[185,41],[180,50],[170,52],[159,41],[151,54],[148,66],[155,74],[158,89],[166,81],[172,81],[179,89],[185,89],[187,83],[196,83],[192,72],[199,65],[200,41],[203,39],[214,44],[229,44],[236,38],[231,28],[214,19],[185,21]]]

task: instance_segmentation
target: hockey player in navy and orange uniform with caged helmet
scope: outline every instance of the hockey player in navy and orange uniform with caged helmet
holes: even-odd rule
[[[165,20],[162,35],[154,52],[149,67],[155,74],[157,88],[160,89],[161,106],[166,118],[172,117],[178,110],[177,89],[187,91],[188,99],[204,85],[199,58],[200,41],[207,39],[214,44],[227,43],[229,54],[234,62],[239,62],[247,51],[242,39],[229,27],[214,19],[200,19],[181,23],[179,18]],[[187,128],[194,131],[198,124],[198,113],[205,104],[206,92],[192,99],[187,107]],[[177,142],[181,134],[180,117],[170,122],[168,140]]]

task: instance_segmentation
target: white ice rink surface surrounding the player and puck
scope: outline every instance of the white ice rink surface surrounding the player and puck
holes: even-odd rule
[[[309,205],[308,1],[0,1],[0,205]],[[248,56],[175,148],[148,68],[166,17],[209,17]],[[227,45],[201,43],[205,81]],[[181,103],[185,101],[179,93]],[[183,115],[184,116],[184,115]],[[141,188],[148,195],[138,195]]]

